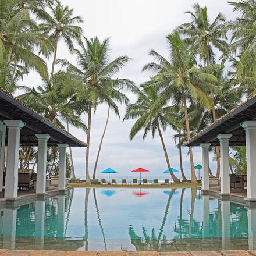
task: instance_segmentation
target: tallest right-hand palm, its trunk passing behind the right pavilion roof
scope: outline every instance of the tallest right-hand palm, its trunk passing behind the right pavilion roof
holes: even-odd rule
[[[209,21],[207,7],[201,8],[200,5],[193,5],[193,11],[188,11],[191,16],[189,23],[184,23],[177,28],[177,30],[186,36],[186,41],[191,46],[191,51],[198,55],[200,61],[204,62],[207,66],[210,63],[215,63],[214,48],[222,53],[226,52],[229,44],[227,44],[227,22],[225,17],[218,13],[214,22]],[[212,104],[212,120],[216,121],[216,111],[214,102],[214,92],[210,90]],[[219,177],[220,162],[219,162],[219,147],[216,147],[217,155],[217,173]]]

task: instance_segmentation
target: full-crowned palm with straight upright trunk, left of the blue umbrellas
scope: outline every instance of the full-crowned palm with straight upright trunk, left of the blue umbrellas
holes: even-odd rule
[[[86,184],[90,184],[89,175],[89,152],[91,135],[91,114],[96,111],[99,103],[106,103],[118,113],[116,104],[112,98],[117,98],[121,88],[132,88],[134,83],[128,79],[113,79],[113,76],[126,65],[130,59],[127,56],[120,56],[109,61],[109,38],[102,42],[98,37],[88,40],[84,38],[85,44],[79,42],[80,49],[74,49],[77,59],[77,66],[67,60],[59,60],[66,67],[66,74],[63,76],[65,84],[62,87],[64,95],[76,94],[77,101],[81,106],[88,108],[88,130],[86,147]],[[84,104],[83,102],[86,102]]]

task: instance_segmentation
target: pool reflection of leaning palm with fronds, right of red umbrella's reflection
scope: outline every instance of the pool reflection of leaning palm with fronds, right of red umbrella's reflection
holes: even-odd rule
[[[130,225],[129,227],[129,236],[131,239],[131,244],[133,244],[136,248],[136,251],[160,251],[161,242],[166,241],[166,236],[163,236],[163,239],[161,240],[163,228],[165,227],[166,218],[168,215],[169,207],[170,207],[170,201],[172,200],[173,195],[175,194],[176,189],[172,189],[170,191],[168,201],[165,207],[165,214],[163,215],[162,225],[159,228],[159,234],[158,237],[155,235],[155,229],[152,229],[151,236],[147,235],[147,230],[145,227],[142,227],[143,229],[143,236],[144,239],[140,236],[137,236],[136,232],[134,232],[133,227]]]

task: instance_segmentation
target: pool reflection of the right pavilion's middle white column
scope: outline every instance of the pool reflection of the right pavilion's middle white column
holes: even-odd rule
[[[230,249],[230,201],[221,201],[222,250]]]

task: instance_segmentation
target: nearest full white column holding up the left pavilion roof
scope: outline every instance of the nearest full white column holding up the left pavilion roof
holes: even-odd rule
[[[5,121],[5,125],[8,126],[5,197],[16,198],[18,194],[20,129],[24,123],[19,120],[8,120]]]

